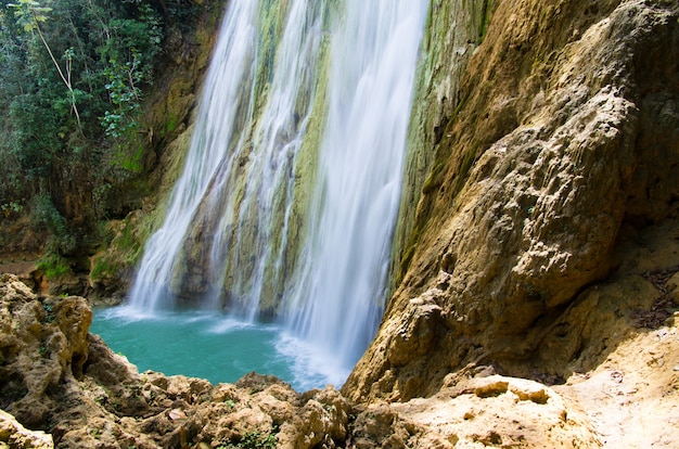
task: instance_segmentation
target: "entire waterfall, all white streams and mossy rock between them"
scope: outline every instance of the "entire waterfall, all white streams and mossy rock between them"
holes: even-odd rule
[[[350,368],[384,309],[427,9],[229,2],[131,307],[271,317]]]

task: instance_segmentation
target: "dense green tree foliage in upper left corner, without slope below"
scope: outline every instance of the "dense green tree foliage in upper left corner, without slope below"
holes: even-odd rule
[[[53,176],[54,164],[73,161],[74,146],[115,140],[138,125],[164,33],[151,0],[49,4],[0,4],[0,94],[11,94],[0,95],[0,110],[11,113],[0,153],[18,156],[34,188]],[[82,133],[76,145],[74,133]]]

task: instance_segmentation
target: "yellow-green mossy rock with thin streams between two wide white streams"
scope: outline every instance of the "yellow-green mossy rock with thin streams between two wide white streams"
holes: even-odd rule
[[[323,12],[321,3],[313,8],[319,9],[316,13]],[[294,66],[305,73],[294,80],[302,86],[293,99],[294,111],[285,118],[290,123],[281,126],[281,117],[270,116],[280,107],[280,99],[272,97],[280,93],[271,91],[270,85],[290,82],[286,73],[271,78],[274,65],[290,64],[279,61],[286,54],[274,52],[290,51],[276,48],[283,44],[280,40],[287,11],[272,10],[258,18],[264,23],[260,44],[266,54],[259,56],[253,86],[244,89],[255,92],[252,110],[234,125],[240,133],[234,134],[220,175],[196,209],[171,279],[171,292],[181,302],[205,300],[207,296],[214,305],[240,313],[249,312],[252,292],[257,292],[261,316],[278,313],[303,244],[324,126],[329,64],[328,37],[315,37],[318,41],[303,49],[308,54],[299,55],[311,66]],[[307,20],[313,17],[308,14]],[[326,26],[328,17],[317,21],[320,24],[315,22],[313,26]],[[259,154],[262,152],[266,154]]]

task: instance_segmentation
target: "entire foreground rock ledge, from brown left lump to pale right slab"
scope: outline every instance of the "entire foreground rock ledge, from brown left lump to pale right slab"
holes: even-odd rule
[[[236,384],[138,373],[95,335],[79,297],[39,298],[0,277],[0,441],[61,448],[598,447],[585,414],[549,387],[487,376],[447,377],[438,395],[355,405],[335,388],[297,393],[272,376]],[[17,441],[30,441],[21,446]],[[12,446],[14,445],[14,446]],[[28,446],[26,446],[28,445]]]

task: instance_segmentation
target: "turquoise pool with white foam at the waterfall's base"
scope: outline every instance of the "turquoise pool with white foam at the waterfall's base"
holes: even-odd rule
[[[129,307],[94,310],[100,335],[140,372],[182,374],[213,384],[234,383],[251,371],[273,374],[298,392],[340,386],[348,372],[277,324],[248,323],[213,310],[155,311]]]

